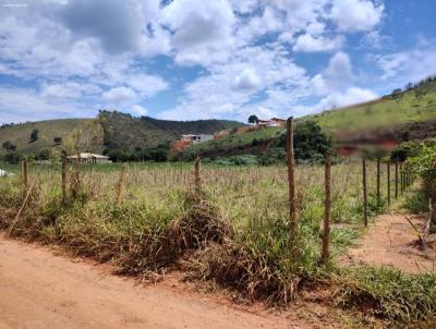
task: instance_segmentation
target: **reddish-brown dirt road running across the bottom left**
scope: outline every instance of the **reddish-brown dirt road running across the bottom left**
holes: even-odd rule
[[[306,328],[284,315],[237,309],[214,296],[143,287],[83,260],[0,235],[3,328]]]

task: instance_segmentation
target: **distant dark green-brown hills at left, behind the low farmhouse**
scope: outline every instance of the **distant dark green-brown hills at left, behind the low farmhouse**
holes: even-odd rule
[[[100,111],[95,119],[59,119],[26,122],[0,127],[1,145],[10,142],[21,154],[39,154],[51,148],[55,138],[62,147],[73,150],[104,153],[116,148],[147,149],[175,141],[181,134],[215,134],[225,129],[240,127],[243,123],[227,120],[167,121],[149,117],[135,118],[118,111]],[[31,135],[37,131],[37,139]]]

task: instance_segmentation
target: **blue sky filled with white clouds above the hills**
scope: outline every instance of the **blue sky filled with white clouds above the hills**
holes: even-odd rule
[[[0,0],[0,123],[301,117],[436,73],[435,0]]]

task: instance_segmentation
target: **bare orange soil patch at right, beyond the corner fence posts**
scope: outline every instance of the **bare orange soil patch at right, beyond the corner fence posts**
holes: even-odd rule
[[[392,212],[379,216],[359,244],[340,258],[342,265],[366,263],[370,265],[390,265],[404,272],[436,272],[436,243],[429,241],[426,251],[420,248],[417,235],[408,222],[408,216],[415,227],[422,229],[425,219]]]

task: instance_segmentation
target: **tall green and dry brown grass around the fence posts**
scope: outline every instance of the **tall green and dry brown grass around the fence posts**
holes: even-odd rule
[[[296,168],[298,240],[288,233],[287,170],[282,166],[203,166],[203,187],[198,191],[193,186],[192,167],[187,163],[135,163],[129,168],[121,205],[116,204],[118,164],[83,166],[81,197],[66,204],[60,199],[58,168],[36,167],[31,167],[31,176],[39,172],[40,184],[12,234],[111,261],[120,273],[148,279],[179,268],[186,278],[213,280],[239,290],[247,298],[286,304],[307,284],[332,284],[331,278],[338,272],[334,259],[326,268],[318,266],[324,211],[322,167]],[[16,174],[0,179],[3,230],[10,228],[23,199],[19,168],[7,169]],[[368,163],[368,183],[370,191],[375,191],[375,163]],[[386,185],[382,188],[385,191]],[[361,194],[360,163],[334,166],[332,221],[338,223],[331,232],[334,257],[362,233]],[[373,210],[375,215],[383,208]],[[382,275],[373,276],[382,280]],[[335,295],[338,305],[353,307],[349,296],[364,298],[375,290],[368,285],[368,277],[353,272],[342,277]],[[383,284],[390,292],[396,291],[397,284],[410,282],[389,280]],[[404,290],[404,295],[416,296],[410,300],[410,318],[386,310],[386,296],[377,291],[373,298],[378,304],[370,305],[374,315],[410,322],[429,317],[434,305],[426,302],[426,296],[419,296],[424,281],[413,282],[410,290]],[[389,307],[395,309],[402,296],[389,294]],[[419,309],[413,305],[431,306]]]

